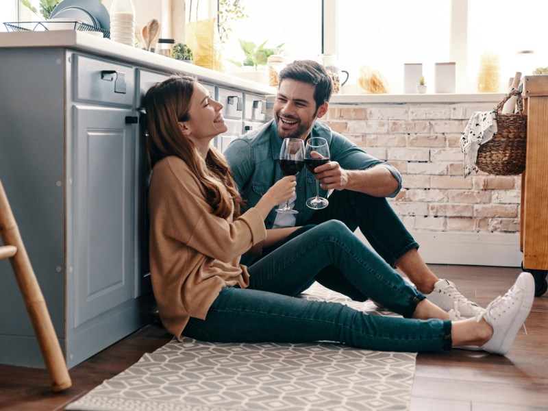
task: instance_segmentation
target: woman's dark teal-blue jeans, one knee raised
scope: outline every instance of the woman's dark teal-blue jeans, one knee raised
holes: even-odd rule
[[[247,289],[225,288],[205,320],[183,334],[216,342],[330,341],[382,351],[450,349],[451,322],[410,319],[424,295],[340,221],[307,226],[249,266]],[[367,297],[405,318],[364,314],[340,303],[295,298],[321,277],[344,282],[347,295]]]

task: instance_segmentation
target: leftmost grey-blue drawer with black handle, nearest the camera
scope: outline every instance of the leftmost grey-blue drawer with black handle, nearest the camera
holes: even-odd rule
[[[74,99],[132,105],[135,76],[131,66],[74,55]]]

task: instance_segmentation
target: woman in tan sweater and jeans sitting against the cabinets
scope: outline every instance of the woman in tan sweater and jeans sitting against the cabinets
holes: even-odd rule
[[[162,323],[174,336],[248,343],[329,340],[386,351],[457,346],[508,351],[532,305],[532,275],[522,273],[476,318],[450,321],[343,223],[267,232],[263,221],[295,193],[295,176],[280,179],[240,215],[241,199],[227,162],[210,145],[227,131],[223,105],[196,79],[175,76],[156,84],[145,105],[153,165],[152,285]],[[243,253],[260,252],[284,238],[284,245],[251,266],[238,264]],[[320,279],[403,318],[295,298]],[[451,316],[456,319],[458,313]]]

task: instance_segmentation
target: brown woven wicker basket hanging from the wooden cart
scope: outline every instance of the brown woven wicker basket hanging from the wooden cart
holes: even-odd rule
[[[501,114],[502,106],[517,95],[518,112]],[[489,174],[518,175],[525,170],[527,116],[523,114],[521,91],[512,90],[495,108],[497,133],[477,150],[477,168]]]

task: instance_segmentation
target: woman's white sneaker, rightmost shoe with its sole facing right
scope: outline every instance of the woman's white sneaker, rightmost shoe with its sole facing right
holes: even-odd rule
[[[497,297],[485,310],[477,314],[476,321],[483,316],[493,327],[493,336],[482,345],[482,349],[501,356],[508,352],[521,325],[529,315],[534,292],[534,277],[531,273],[523,272],[503,297]]]

